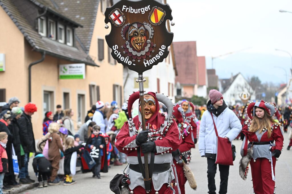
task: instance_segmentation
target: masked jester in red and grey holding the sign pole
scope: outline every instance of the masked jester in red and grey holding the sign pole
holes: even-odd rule
[[[144,103],[145,106],[146,131],[142,131],[140,111],[139,115],[131,118],[132,105],[138,98],[139,92],[134,92],[130,96],[128,100],[130,118],[117,134],[115,142],[117,149],[127,154],[129,191],[130,193],[146,193],[142,163],[144,163],[144,153],[149,152],[149,177],[152,179],[152,190],[149,193],[172,194],[173,191],[177,191],[177,183],[174,181],[175,175],[171,167],[171,152],[178,149],[181,144],[178,126],[171,118],[173,104],[164,95],[153,92],[144,94],[144,102],[139,102]],[[167,117],[159,113],[159,102],[168,108]]]

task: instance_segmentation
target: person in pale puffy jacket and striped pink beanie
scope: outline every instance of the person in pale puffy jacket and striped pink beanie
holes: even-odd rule
[[[217,90],[210,90],[207,111],[201,118],[199,131],[199,152],[201,157],[207,158],[208,189],[210,194],[216,194],[215,174],[217,164],[215,164],[217,154],[217,137],[211,114],[218,130],[218,136],[227,138],[230,142],[241,132],[242,125],[223,101],[223,95]],[[220,165],[220,189],[219,194],[227,193],[229,165]]]

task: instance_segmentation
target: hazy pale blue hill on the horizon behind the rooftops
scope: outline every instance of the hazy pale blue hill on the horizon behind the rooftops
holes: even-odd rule
[[[210,69],[211,66],[211,57],[206,57],[207,69]],[[283,67],[289,80],[291,76],[289,73],[289,68],[291,68],[290,57],[261,53],[236,53],[214,59],[214,67],[219,79],[230,78],[231,73],[235,75],[241,72],[246,79],[255,75],[263,83],[286,83],[284,70],[275,68],[275,66]]]

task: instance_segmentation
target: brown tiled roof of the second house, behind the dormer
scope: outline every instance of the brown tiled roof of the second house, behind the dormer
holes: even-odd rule
[[[62,13],[83,26],[83,28],[77,28],[76,33],[88,53],[100,0],[54,1]]]

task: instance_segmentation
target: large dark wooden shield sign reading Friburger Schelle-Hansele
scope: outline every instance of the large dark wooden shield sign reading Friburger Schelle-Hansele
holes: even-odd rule
[[[111,32],[105,36],[114,59],[142,74],[169,54],[173,33],[166,29],[171,8],[155,0],[121,0],[105,10]]]

